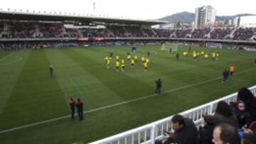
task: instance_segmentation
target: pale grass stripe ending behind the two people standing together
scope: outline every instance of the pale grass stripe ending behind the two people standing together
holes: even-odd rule
[[[124,101],[103,84],[102,79],[98,79],[90,72],[87,72],[85,67],[81,67],[78,62],[70,58],[65,52],[68,52],[68,50],[47,50],[48,57],[55,67],[55,76],[65,94],[65,99],[68,99],[69,96],[73,96],[75,99],[85,99],[85,109],[95,109]],[[99,87],[100,91],[98,90]]]

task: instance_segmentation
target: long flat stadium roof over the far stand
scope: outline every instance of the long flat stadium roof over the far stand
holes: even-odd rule
[[[92,15],[85,16],[84,14],[63,14],[63,13],[46,13],[46,12],[20,12],[20,11],[0,11],[1,20],[18,20],[18,21],[79,21],[85,23],[100,22],[100,23],[122,23],[122,24],[139,24],[139,25],[157,25],[168,23],[167,21],[153,20],[134,20],[124,18],[105,18],[94,17]]]

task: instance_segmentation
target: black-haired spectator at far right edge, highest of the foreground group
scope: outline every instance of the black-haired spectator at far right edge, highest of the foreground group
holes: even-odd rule
[[[256,98],[249,89],[243,87],[238,91],[238,99],[245,102],[245,107],[250,113],[251,121],[256,121]]]

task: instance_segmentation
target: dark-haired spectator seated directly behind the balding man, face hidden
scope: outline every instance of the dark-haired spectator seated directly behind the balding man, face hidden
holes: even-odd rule
[[[218,118],[219,123],[229,123],[231,126],[239,128],[238,119],[225,101],[218,102],[214,116]]]

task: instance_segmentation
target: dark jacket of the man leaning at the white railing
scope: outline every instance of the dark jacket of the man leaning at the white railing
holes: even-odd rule
[[[183,128],[174,132],[170,138],[166,140],[164,144],[198,144],[198,130],[195,123],[189,118],[185,118],[185,125]]]

